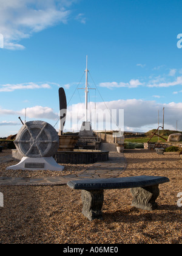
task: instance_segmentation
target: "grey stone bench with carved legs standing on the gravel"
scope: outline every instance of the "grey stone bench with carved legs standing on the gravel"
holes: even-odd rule
[[[167,177],[133,176],[112,179],[72,180],[67,185],[73,190],[81,190],[83,201],[82,213],[90,221],[103,219],[102,207],[104,190],[131,188],[132,206],[143,210],[155,210],[155,202],[160,194],[158,185],[169,182]]]

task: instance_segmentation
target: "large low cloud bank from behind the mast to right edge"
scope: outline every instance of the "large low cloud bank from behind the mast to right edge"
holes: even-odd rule
[[[93,111],[95,109],[95,102],[90,102],[90,109]],[[156,101],[144,101],[141,99],[127,99],[118,101],[106,102],[107,108],[110,112],[112,110],[124,109],[124,130],[134,130],[145,132],[150,129],[157,129],[158,127],[158,110],[160,111],[160,125],[163,123],[163,107],[164,111],[164,129],[176,129],[176,121],[178,120],[178,127],[182,130],[182,103],[170,102],[169,104],[160,104]],[[107,110],[104,102],[96,102],[97,110]],[[179,108],[179,109],[178,109]],[[76,126],[76,120],[79,119],[84,121],[84,104],[76,104],[69,107],[69,112],[72,116],[72,127],[76,130],[76,127],[80,129],[81,121],[79,125]],[[94,112],[94,111],[93,111]],[[79,116],[79,118],[78,118]],[[88,114],[90,116],[90,113]],[[108,113],[109,116],[109,113]],[[107,116],[107,117],[108,117]],[[118,117],[117,117],[118,118]],[[67,118],[66,128],[68,125]],[[95,120],[92,119],[93,129],[95,127]],[[181,127],[181,128],[180,128]]]

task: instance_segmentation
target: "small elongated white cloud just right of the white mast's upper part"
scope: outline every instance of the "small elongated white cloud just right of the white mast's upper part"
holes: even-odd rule
[[[106,87],[106,88],[109,88],[109,89],[121,88],[121,87],[136,88],[139,85],[143,85],[143,84],[138,79],[131,79],[129,83],[104,82],[104,83],[99,84],[100,87]]]

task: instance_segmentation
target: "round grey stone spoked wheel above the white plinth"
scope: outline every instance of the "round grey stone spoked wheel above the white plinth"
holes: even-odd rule
[[[25,157],[50,157],[58,151],[59,137],[50,124],[30,121],[19,130],[14,143]]]

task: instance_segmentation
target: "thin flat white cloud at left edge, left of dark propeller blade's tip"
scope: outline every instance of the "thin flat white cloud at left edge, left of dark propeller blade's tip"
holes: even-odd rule
[[[50,89],[49,84],[35,84],[33,82],[24,84],[5,84],[0,86],[1,92],[15,91],[15,90],[33,90],[33,89]]]

